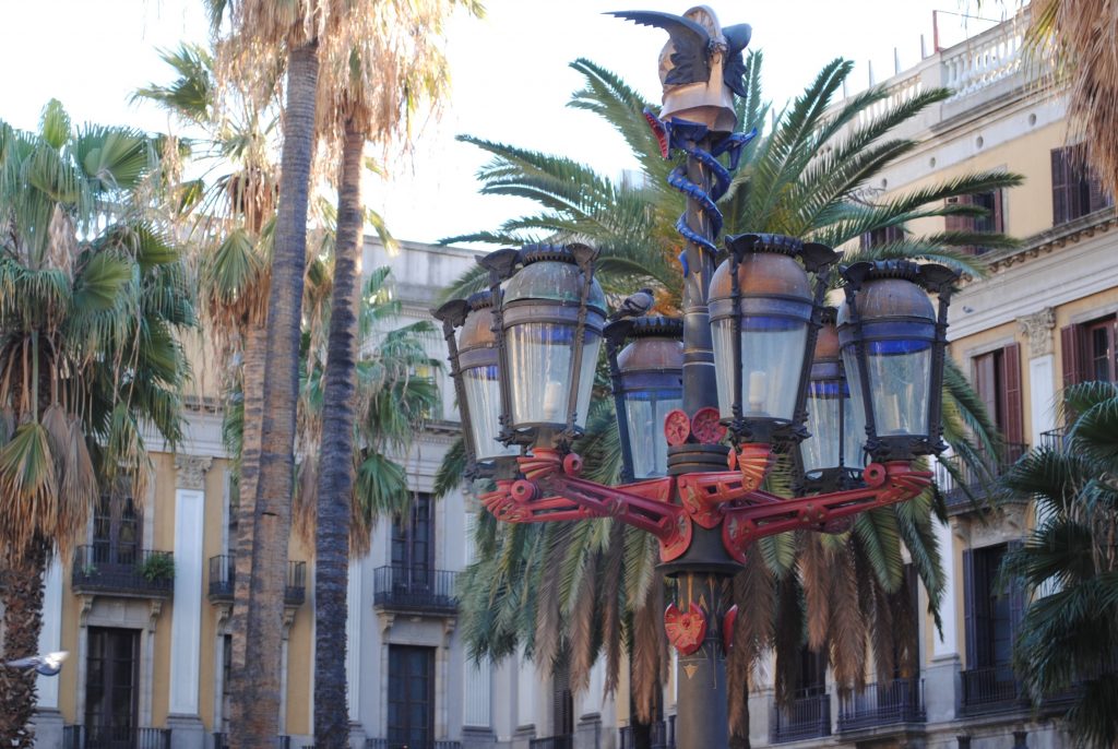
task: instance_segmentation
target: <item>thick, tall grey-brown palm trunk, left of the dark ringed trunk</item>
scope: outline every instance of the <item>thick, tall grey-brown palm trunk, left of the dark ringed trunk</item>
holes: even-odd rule
[[[291,533],[299,400],[300,317],[306,267],[306,205],[314,151],[318,42],[288,55],[267,348],[262,400],[260,468],[253,508],[252,580],[245,618],[245,666],[234,680],[235,749],[275,746],[280,730],[283,597]]]

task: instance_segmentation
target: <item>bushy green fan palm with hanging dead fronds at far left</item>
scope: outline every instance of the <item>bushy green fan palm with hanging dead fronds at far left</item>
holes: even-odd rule
[[[117,478],[145,495],[141,424],[173,449],[193,303],[179,250],[148,220],[157,142],[73,127],[51,101],[38,133],[0,123],[2,660],[38,648],[42,573]],[[0,671],[0,743],[30,747],[34,674]]]

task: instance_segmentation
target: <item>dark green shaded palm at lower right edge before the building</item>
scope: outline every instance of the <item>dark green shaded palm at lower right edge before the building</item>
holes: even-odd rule
[[[1014,670],[1033,704],[1070,693],[1072,736],[1103,749],[1118,746],[1118,387],[1076,385],[1063,402],[1063,444],[1030,452],[1003,477],[1008,496],[1033,499],[1036,516],[1003,575],[1032,597]]]

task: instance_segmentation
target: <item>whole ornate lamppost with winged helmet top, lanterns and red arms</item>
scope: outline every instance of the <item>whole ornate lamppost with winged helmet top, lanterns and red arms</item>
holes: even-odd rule
[[[840,271],[846,298],[835,312],[823,304],[839,258],[828,247],[738,235],[724,239],[716,268],[714,200],[730,179],[720,157],[732,169],[751,136],[733,132],[731,93],[743,93],[749,27],[722,30],[707,8],[615,15],[671,35],[664,107],[646,116],[665,158],[686,154],[669,178],[688,196],[676,225],[686,241],[682,317],[642,316],[646,304],[631,303],[606,324],[597,253],[578,244],[492,253],[480,259],[489,292],[434,314],[451,351],[470,474],[495,482],[485,508],[506,522],[612,516],[659,540],[661,569],[676,582],[664,624],[679,652],[678,746],[711,749],[729,742],[726,654],[738,614],[729,580],[748,547],[792,530],[842,530],[929,485],[913,462],[942,449],[956,274],[858,263]],[[571,451],[603,340],[620,486],[581,478]],[[794,499],[762,489],[776,452],[802,467]]]

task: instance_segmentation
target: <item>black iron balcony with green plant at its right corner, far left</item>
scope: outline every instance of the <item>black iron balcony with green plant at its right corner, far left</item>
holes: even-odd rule
[[[70,587],[77,594],[168,598],[174,589],[174,559],[170,551],[107,543],[78,547],[70,568]]]

